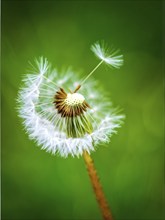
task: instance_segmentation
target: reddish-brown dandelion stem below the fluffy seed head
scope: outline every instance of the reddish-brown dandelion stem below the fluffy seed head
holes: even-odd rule
[[[94,167],[94,162],[90,155],[87,153],[87,151],[84,151],[84,160],[86,163],[86,167],[88,170],[88,174],[92,183],[92,187],[97,199],[97,202],[99,204],[99,207],[101,209],[101,213],[104,220],[113,220],[112,213],[110,211],[110,208],[108,207],[107,201],[105,199],[99,177],[97,176],[96,169]]]

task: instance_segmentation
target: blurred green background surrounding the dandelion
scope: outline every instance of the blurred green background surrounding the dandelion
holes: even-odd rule
[[[2,219],[100,220],[83,158],[36,147],[23,131],[16,96],[28,61],[88,73],[90,45],[120,48],[120,70],[95,78],[123,108],[125,123],[95,161],[115,220],[163,215],[162,1],[2,1]],[[98,100],[101,101],[101,100]]]

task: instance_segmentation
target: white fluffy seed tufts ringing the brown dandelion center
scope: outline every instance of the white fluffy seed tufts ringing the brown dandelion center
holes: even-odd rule
[[[88,100],[91,108],[83,114],[85,118],[89,118],[92,126],[92,131],[85,132],[82,136],[82,119],[77,117],[75,121],[73,117],[72,126],[76,137],[73,135],[68,137],[66,132],[69,129],[68,118],[61,117],[55,109],[54,96],[59,91],[58,81],[61,82],[60,87],[74,91],[74,83],[80,82],[81,78],[72,71],[59,74],[51,70],[47,59],[44,58],[36,62],[33,71],[33,74],[25,76],[24,85],[19,90],[17,98],[19,116],[23,119],[30,139],[35,140],[41,149],[62,157],[80,156],[84,151],[91,153],[99,144],[110,141],[111,135],[116,133],[124,116],[115,114],[109,98],[106,98],[102,89],[100,90],[100,83],[88,79],[81,87],[83,95],[79,93],[67,95],[70,105]],[[83,123],[86,125],[86,121]]]

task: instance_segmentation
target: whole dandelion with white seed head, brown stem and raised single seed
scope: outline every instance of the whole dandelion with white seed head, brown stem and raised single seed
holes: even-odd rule
[[[102,64],[119,68],[122,55],[99,43],[91,47],[100,63],[82,80],[71,70],[59,74],[46,58],[32,65],[18,95],[18,112],[29,138],[42,149],[62,157],[83,155],[104,219],[112,219],[90,153],[120,127],[123,115],[115,113],[112,103],[98,83],[89,77]]]

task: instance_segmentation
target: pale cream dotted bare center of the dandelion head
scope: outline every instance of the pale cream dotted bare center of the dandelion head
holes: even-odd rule
[[[68,93],[65,103],[69,106],[81,105],[85,101],[85,98],[80,93]]]

